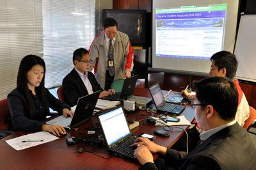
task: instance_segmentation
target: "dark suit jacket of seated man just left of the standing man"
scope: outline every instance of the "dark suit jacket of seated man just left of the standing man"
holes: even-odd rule
[[[99,90],[103,91],[92,72],[88,72],[88,79],[92,84],[93,92]],[[84,82],[76,72],[75,68],[73,68],[73,70],[63,79],[62,88],[65,95],[65,101],[70,105],[70,107],[77,104],[78,98],[88,95]]]

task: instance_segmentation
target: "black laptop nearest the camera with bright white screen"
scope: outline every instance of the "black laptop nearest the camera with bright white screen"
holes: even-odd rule
[[[134,159],[134,148],[131,144],[136,136],[131,134],[122,107],[99,115],[99,122],[109,153]]]

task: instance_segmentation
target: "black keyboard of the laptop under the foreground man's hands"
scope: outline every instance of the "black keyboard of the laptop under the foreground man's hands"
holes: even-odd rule
[[[115,146],[113,146],[111,150],[116,153],[119,153],[120,155],[129,155],[130,153],[134,152],[134,148],[131,146],[131,144],[134,143],[135,139],[136,139],[136,136],[130,135],[120,143],[115,144]]]

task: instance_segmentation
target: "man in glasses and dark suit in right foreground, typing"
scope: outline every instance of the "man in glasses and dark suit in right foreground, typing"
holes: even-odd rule
[[[207,77],[195,82],[196,121],[205,131],[202,143],[190,153],[168,149],[139,137],[134,156],[141,169],[254,169],[256,150],[248,132],[235,120],[238,98],[234,83],[225,77]],[[164,160],[153,162],[152,153]]]

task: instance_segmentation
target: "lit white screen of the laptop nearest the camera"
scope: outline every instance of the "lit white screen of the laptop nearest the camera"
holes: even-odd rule
[[[122,107],[101,114],[99,121],[108,146],[131,134]]]

